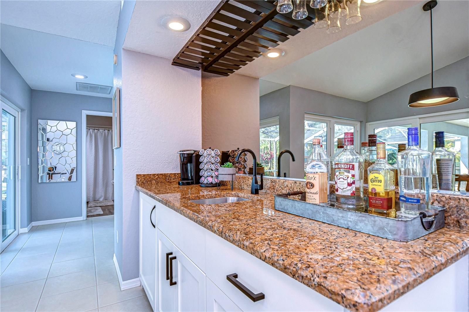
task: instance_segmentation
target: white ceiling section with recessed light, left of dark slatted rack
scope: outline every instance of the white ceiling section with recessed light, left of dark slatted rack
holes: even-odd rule
[[[173,59],[218,4],[216,0],[137,1],[123,48]],[[161,25],[166,16],[183,17],[191,27],[171,31]]]

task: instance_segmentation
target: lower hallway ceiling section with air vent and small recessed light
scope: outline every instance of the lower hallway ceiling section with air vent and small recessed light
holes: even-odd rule
[[[32,89],[112,97],[76,91],[76,82],[112,86],[113,47],[8,25],[1,25],[0,38],[1,50]]]

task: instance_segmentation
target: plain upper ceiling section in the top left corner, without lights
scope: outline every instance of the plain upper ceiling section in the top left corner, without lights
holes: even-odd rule
[[[121,1],[0,1],[2,24],[114,46]]]

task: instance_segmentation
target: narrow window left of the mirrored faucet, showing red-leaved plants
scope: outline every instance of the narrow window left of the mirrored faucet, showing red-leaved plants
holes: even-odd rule
[[[265,175],[277,175],[277,158],[280,153],[279,117],[263,119],[259,126],[259,162],[265,165]]]

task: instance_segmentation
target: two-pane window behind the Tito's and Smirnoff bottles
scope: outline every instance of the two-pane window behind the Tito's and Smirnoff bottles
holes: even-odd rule
[[[331,131],[334,129],[334,132]],[[311,154],[314,137],[321,137],[323,149],[329,157],[337,151],[337,139],[345,132],[354,132],[355,148],[360,144],[360,121],[332,118],[306,113],[304,115],[304,163]]]

